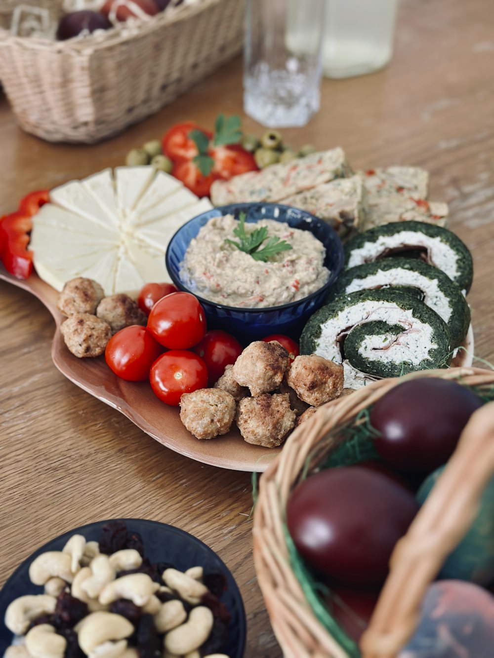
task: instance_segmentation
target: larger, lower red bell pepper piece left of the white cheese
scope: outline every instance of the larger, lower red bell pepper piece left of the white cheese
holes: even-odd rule
[[[32,272],[32,251],[28,251],[31,217],[26,213],[11,213],[0,221],[0,258],[7,272],[18,279],[27,279]]]

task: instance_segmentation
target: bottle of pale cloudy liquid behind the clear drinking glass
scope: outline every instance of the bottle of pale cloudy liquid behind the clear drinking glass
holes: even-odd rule
[[[323,74],[349,78],[377,71],[393,55],[397,0],[326,0]]]

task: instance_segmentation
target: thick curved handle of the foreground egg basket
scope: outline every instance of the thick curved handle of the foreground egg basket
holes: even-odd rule
[[[494,474],[494,402],[470,418],[422,509],[391,555],[389,576],[362,635],[362,658],[395,658],[412,636],[429,584],[478,513]]]

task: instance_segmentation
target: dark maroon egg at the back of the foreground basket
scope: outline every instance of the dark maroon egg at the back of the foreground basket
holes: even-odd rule
[[[381,433],[374,445],[391,467],[429,473],[447,462],[468,418],[481,407],[478,395],[445,379],[412,379],[392,388],[370,413]]]

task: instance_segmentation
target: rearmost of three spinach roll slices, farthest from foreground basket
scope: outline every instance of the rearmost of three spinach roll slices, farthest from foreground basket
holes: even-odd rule
[[[456,234],[442,226],[392,222],[350,238],[344,250],[347,268],[418,250],[426,263],[442,270],[460,290],[467,293],[472,286],[472,255]]]

